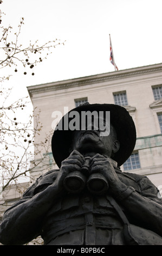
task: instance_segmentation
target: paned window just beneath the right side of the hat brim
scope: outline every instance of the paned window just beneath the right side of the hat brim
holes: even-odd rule
[[[132,170],[140,168],[139,154],[133,153],[123,165],[124,170]]]

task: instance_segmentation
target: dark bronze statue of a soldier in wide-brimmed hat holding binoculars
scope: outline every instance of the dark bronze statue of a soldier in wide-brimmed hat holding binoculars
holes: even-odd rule
[[[0,242],[23,245],[41,235],[44,245],[162,245],[158,189],[145,176],[120,170],[135,146],[131,116],[113,104],[74,110],[109,111],[109,135],[57,126],[51,147],[60,170],[41,175],[4,213]]]

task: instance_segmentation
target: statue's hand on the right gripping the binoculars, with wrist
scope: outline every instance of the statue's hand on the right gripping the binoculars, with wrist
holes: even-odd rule
[[[96,154],[90,160],[89,168],[90,174],[100,173],[106,178],[109,192],[118,193],[122,182],[119,180],[118,175],[115,172],[111,159],[100,154]]]

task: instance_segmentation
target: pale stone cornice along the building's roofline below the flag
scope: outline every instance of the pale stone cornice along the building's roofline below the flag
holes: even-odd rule
[[[162,71],[162,63],[27,87],[29,95]]]

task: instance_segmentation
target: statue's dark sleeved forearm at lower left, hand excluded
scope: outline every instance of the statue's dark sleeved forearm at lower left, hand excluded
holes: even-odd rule
[[[22,198],[7,210],[0,225],[0,242],[24,245],[40,235],[43,219],[61,193],[62,186],[55,181],[42,192]]]

